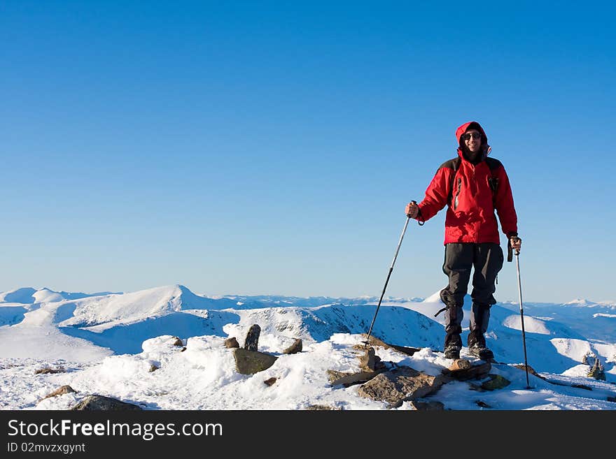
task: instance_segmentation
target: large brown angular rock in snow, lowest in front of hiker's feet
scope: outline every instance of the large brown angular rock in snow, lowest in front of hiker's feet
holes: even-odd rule
[[[399,407],[402,402],[437,392],[444,382],[441,375],[430,376],[411,367],[400,366],[370,379],[359,388],[358,395]]]

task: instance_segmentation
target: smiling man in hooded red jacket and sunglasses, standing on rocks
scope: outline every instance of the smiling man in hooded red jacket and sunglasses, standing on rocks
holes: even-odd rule
[[[493,358],[486,347],[490,307],[496,304],[496,275],[503,268],[500,227],[512,249],[519,252],[517,214],[509,178],[498,159],[489,158],[490,147],[482,126],[467,122],[456,130],[458,157],[442,163],[426,189],[421,203],[408,203],[408,217],[426,221],[447,205],[443,272],[449,284],[440,292],[445,304],[444,354],[460,358],[462,349],[462,306],[471,268],[472,307],[468,349],[483,360]]]

